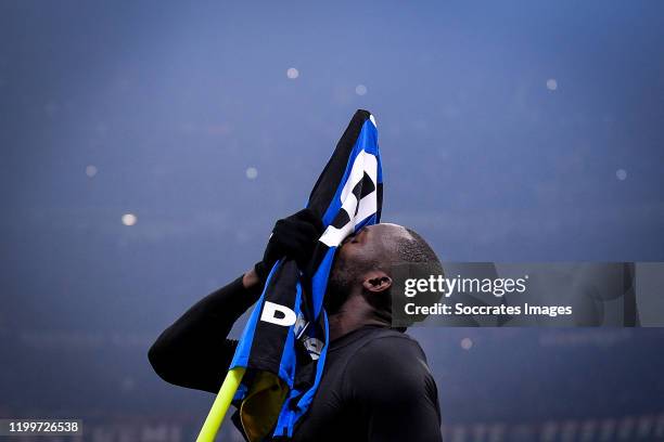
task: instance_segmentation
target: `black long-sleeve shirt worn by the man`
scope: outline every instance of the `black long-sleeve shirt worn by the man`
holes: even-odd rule
[[[150,349],[155,372],[168,382],[217,393],[237,346],[226,337],[258,297],[238,278],[203,298]],[[293,441],[442,441],[436,384],[418,342],[380,326],[332,341]]]

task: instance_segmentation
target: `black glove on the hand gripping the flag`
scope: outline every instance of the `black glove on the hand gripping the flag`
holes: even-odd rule
[[[322,233],[322,221],[311,209],[277,221],[263,261],[254,265],[260,281],[265,283],[272,265],[283,257],[294,259],[299,269],[305,269]]]

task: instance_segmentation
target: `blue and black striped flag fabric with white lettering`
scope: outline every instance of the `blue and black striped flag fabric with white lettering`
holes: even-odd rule
[[[289,439],[320,382],[329,346],[323,298],[336,248],[380,222],[383,177],[375,119],[357,110],[309,195],[323,222],[307,269],[282,259],[271,269],[230,368],[246,368],[233,417],[250,441]]]

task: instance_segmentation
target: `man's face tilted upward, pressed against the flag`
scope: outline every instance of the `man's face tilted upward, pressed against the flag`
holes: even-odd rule
[[[410,237],[406,229],[397,224],[374,224],[360,230],[343,240],[330,272],[324,307],[328,313],[337,313],[353,289],[360,286],[370,270],[391,261],[395,239]]]

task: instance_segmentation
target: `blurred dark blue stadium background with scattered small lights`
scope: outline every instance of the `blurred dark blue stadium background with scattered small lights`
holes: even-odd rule
[[[213,396],[146,350],[357,108],[440,258],[663,261],[663,48],[654,1],[1,0],[0,417],[192,440]],[[664,440],[659,329],[411,333],[447,440]]]

